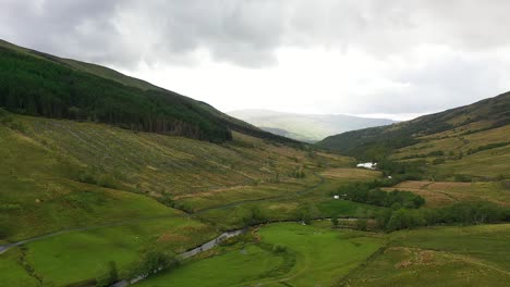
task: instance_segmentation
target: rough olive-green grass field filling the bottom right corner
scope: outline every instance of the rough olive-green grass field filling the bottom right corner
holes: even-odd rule
[[[508,286],[510,225],[397,232],[339,286]]]

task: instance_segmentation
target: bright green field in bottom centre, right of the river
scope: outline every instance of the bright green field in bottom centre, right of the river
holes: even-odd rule
[[[137,286],[330,286],[381,245],[378,236],[295,223],[270,224],[255,241],[217,250]],[[284,251],[275,251],[275,246]]]

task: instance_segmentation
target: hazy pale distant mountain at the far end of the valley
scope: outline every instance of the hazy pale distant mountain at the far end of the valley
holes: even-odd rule
[[[343,114],[298,114],[269,110],[238,110],[228,113],[264,130],[302,141],[318,141],[327,136],[396,123]]]

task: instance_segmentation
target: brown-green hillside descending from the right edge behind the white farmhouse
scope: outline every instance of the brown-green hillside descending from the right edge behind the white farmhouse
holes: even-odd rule
[[[510,92],[391,126],[328,137],[318,145],[360,160],[422,161],[436,179],[510,178]]]

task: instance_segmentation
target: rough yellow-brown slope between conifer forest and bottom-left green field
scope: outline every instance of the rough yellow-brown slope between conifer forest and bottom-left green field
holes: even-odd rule
[[[293,192],[318,182],[305,165],[327,160],[241,134],[215,145],[74,121],[7,114],[1,122],[0,239],[167,213],[134,195],[195,210],[215,194],[227,195],[222,204]],[[308,176],[296,178],[303,169]]]

